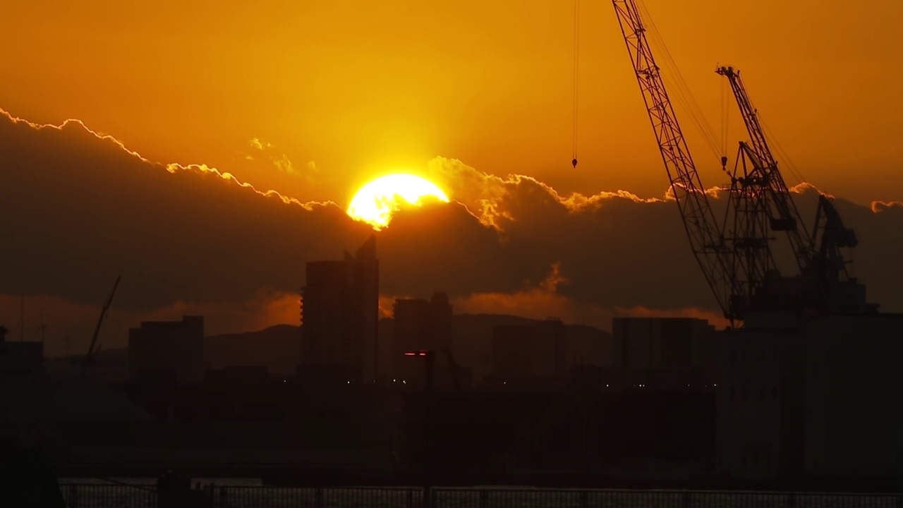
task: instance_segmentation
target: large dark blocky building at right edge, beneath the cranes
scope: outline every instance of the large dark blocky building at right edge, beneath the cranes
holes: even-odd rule
[[[722,473],[899,478],[903,315],[749,313],[718,335]]]

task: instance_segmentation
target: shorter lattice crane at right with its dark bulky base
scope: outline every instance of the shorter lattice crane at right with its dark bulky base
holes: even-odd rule
[[[758,268],[749,270],[747,274],[749,287],[752,288],[749,296],[757,298],[756,293],[761,294],[758,302],[748,301],[747,304],[760,306],[764,301],[772,305],[778,302],[796,306],[797,309],[810,307],[822,312],[865,310],[868,308],[865,287],[850,276],[848,262],[843,259],[841,250],[857,245],[855,233],[843,225],[840,214],[824,194],[819,196],[812,233],[805,229],[805,221],[796,209],[777,167],[777,160],[768,147],[758,111],[752,106],[740,71],[731,66],[718,66],[715,72],[731,83],[750,139],[749,144],[740,142],[738,164],[742,159],[744,172],[740,175],[735,169],[731,184],[731,204],[734,206],[735,223],[738,224],[734,232],[740,238],[756,240],[755,249],[747,249],[743,256],[747,266]],[[751,170],[746,161],[749,161]],[[740,205],[740,202],[743,204]],[[745,221],[740,218],[744,214],[748,216]],[[782,282],[791,278],[782,276],[776,267],[768,246],[768,229],[787,232],[803,283],[801,294],[787,294],[787,287],[792,285]],[[820,238],[819,231],[822,231]]]

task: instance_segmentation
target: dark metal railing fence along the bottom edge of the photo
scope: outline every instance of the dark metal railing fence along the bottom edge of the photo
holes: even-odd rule
[[[148,485],[63,484],[68,508],[164,508]],[[424,508],[423,489],[213,486],[191,491],[192,508]],[[433,488],[432,508],[903,508],[903,494]]]

